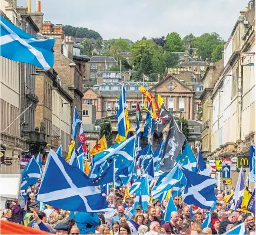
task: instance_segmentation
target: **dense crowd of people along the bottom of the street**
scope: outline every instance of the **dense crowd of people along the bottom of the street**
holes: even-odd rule
[[[177,212],[171,212],[171,219],[164,222],[168,200],[157,199],[148,203],[144,212],[141,205],[135,208],[135,195],[125,196],[125,188],[110,189],[106,197],[111,213],[69,212],[46,206],[39,210],[35,186],[9,209],[1,212],[1,220],[23,224],[53,234],[224,234],[238,224],[245,223],[247,234],[255,235],[255,214],[242,213],[228,208],[225,191],[215,188],[217,197],[214,207],[200,209],[195,205],[181,203],[180,196],[172,196]],[[131,213],[134,209],[134,213]],[[207,214],[211,213],[208,227],[202,228]]]

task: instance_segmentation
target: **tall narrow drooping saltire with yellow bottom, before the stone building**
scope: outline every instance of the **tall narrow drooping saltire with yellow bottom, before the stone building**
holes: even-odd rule
[[[126,139],[125,130],[126,130],[126,120],[125,120],[125,109],[126,109],[126,96],[124,84],[122,84],[122,91],[119,97],[118,110],[117,110],[117,137],[115,141],[118,143]]]

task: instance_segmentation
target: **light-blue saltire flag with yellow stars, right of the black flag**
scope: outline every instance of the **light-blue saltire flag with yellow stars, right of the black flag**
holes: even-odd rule
[[[179,164],[181,164],[181,166],[183,166],[185,169],[189,169],[189,171],[198,171],[197,158],[195,158],[195,155],[187,141],[184,151],[181,155],[177,156],[176,161],[179,162]]]

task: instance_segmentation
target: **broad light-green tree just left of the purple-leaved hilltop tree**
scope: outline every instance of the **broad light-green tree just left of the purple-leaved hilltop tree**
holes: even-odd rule
[[[156,49],[155,43],[151,39],[141,39],[131,46],[131,63],[134,65],[134,70],[141,69],[141,60],[145,55],[152,56]]]

